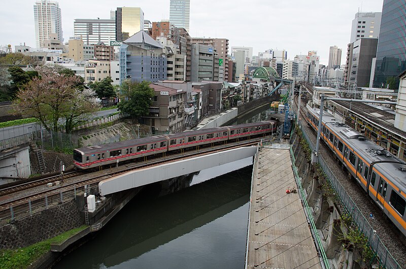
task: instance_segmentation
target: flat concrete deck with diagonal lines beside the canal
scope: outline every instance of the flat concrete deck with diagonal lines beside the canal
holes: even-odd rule
[[[296,190],[289,144],[260,149],[254,162],[246,268],[322,268]]]

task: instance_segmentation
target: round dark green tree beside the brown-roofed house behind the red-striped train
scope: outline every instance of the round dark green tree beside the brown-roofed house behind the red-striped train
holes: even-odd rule
[[[154,89],[149,84],[149,81],[124,81],[121,84],[122,96],[121,102],[117,105],[118,109],[135,118],[147,116],[155,96]]]

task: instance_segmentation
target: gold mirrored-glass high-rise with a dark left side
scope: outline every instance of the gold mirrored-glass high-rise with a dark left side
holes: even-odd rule
[[[144,30],[144,12],[141,8],[117,8],[116,41],[124,41]]]

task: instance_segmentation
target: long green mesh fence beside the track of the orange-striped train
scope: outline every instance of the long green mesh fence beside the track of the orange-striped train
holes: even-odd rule
[[[299,126],[301,126],[300,123]],[[306,141],[309,143],[310,148],[314,150],[316,147],[314,143],[310,140],[307,132],[303,128],[301,128],[301,132],[303,134],[304,139],[306,139]],[[328,167],[327,162],[320,154],[318,160],[323,172],[326,174],[326,179],[329,181],[334,191],[339,195],[341,205],[345,208],[346,212],[352,216],[352,221],[354,221],[354,223],[358,226],[359,231],[362,232],[364,236],[368,239],[368,244],[371,247],[371,249],[375,251],[376,257],[378,258],[380,265],[387,269],[401,269],[399,263],[397,263],[397,261],[392,257],[388,249],[385,247],[381,239],[378,237],[374,228],[362,215],[361,211],[359,210],[353,199],[351,199],[351,197],[344,189],[343,185],[334,176],[333,172]]]

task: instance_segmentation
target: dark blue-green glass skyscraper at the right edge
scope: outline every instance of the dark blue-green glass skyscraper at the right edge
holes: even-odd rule
[[[404,70],[406,70],[406,8],[404,1],[384,0],[373,86],[386,88],[387,78],[395,77],[399,81],[397,76]]]

